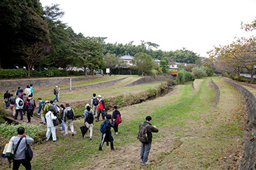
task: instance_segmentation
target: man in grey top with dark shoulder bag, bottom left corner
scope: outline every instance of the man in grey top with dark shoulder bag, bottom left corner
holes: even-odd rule
[[[31,137],[25,134],[24,127],[17,128],[17,137],[13,137],[13,149],[16,150],[13,159],[13,169],[19,169],[20,164],[22,164],[25,169],[31,169],[31,163],[29,160],[25,159],[25,149],[27,143],[31,143],[34,141]],[[18,144],[20,142],[20,144]]]

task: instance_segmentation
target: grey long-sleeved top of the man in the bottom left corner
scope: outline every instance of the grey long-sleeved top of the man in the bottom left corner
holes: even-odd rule
[[[22,135],[17,135],[17,137],[13,138],[13,148],[17,147],[17,143],[19,142],[20,138]],[[27,143],[31,143],[34,141],[31,137],[23,137],[23,139],[20,141],[20,145],[17,148],[16,154],[14,156],[14,160],[24,160],[25,159],[25,149],[26,149],[26,138],[27,138]]]

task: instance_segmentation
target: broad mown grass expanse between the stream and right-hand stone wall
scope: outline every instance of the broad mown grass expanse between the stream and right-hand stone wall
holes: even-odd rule
[[[218,84],[225,84],[221,79],[214,80]],[[93,140],[89,141],[81,139],[79,127],[83,120],[77,120],[74,123],[78,130],[76,136],[59,136],[56,143],[49,141],[34,148],[32,167],[125,169],[129,165],[129,169],[140,169],[136,133],[139,123],[150,115],[159,133],[153,135],[149,157],[152,165],[148,169],[227,169],[229,165],[232,166],[234,153],[241,149],[237,141],[243,132],[238,125],[241,121],[241,98],[234,88],[226,84],[221,88],[222,96],[235,97],[235,105],[239,108],[222,111],[225,107],[225,98],[222,97],[220,102],[223,103],[214,111],[215,95],[213,88],[209,87],[209,79],[204,79],[196,90],[192,89],[191,84],[178,86],[170,95],[155,101],[121,109],[124,121],[120,125],[120,137],[115,138],[115,147],[119,149],[116,153],[110,153],[109,146],[104,146],[103,152],[97,151],[101,138],[100,123],[95,123]],[[226,96],[227,92],[232,95]],[[137,153],[132,153],[132,150]],[[231,158],[227,161],[222,158],[229,155]],[[116,164],[118,167],[115,167]]]

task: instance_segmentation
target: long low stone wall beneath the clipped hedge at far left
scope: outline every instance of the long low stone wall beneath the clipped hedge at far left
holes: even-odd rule
[[[87,81],[97,78],[99,77],[72,77],[72,82],[78,82],[83,80]],[[0,91],[16,91],[18,86],[24,89],[29,84],[33,84],[33,86],[52,86],[52,84],[69,84],[69,79],[70,77],[0,80]]]

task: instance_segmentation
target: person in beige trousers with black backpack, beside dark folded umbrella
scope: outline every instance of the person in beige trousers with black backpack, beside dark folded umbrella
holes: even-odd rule
[[[87,126],[87,135],[86,137],[92,141],[92,127],[93,127],[93,120],[94,120],[94,112],[92,111],[91,107],[89,104],[85,105],[85,111],[83,113],[83,116],[85,117],[85,122],[84,124]],[[89,136],[90,132],[90,136]]]

